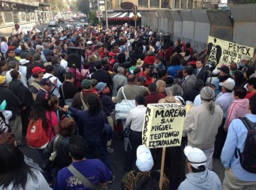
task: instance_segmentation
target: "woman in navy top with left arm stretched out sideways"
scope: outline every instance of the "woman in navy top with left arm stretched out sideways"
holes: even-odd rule
[[[69,106],[64,106],[66,110],[80,117],[83,121],[84,136],[88,145],[87,159],[94,159],[95,148],[98,149],[102,162],[110,169],[108,159],[107,142],[102,139],[104,124],[108,123],[108,118],[102,111],[100,100],[94,96],[89,96],[87,100],[88,110],[78,110]]]

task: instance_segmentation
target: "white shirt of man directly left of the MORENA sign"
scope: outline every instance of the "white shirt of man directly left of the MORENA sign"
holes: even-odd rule
[[[146,114],[146,107],[138,105],[136,108],[132,108],[127,116],[127,122],[125,127],[131,124],[131,130],[142,132],[144,115]]]

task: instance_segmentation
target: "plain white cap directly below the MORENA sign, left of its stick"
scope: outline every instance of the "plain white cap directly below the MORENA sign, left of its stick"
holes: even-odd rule
[[[150,150],[145,145],[138,146],[136,166],[142,172],[148,172],[154,165]]]

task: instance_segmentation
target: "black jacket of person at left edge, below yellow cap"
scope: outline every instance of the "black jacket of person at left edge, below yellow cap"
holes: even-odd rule
[[[7,107],[5,110],[12,111],[10,121],[15,119],[16,116],[20,116],[21,102],[19,98],[12,92],[12,90],[7,89],[7,87],[0,86],[0,103],[4,100],[7,101]]]

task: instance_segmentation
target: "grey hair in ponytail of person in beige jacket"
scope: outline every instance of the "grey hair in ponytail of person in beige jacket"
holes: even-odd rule
[[[208,110],[211,114],[214,114],[215,104],[214,104],[215,93],[211,87],[203,87],[200,91],[201,100],[208,103]]]

